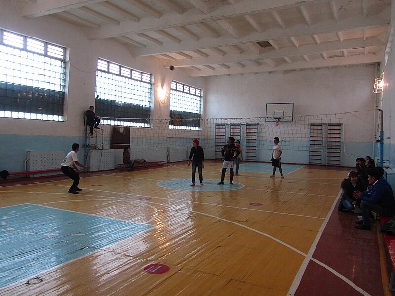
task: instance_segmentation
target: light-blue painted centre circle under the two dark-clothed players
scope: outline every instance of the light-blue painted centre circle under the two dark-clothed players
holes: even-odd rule
[[[228,177],[228,179],[226,179]],[[191,179],[170,179],[158,182],[157,185],[160,187],[176,190],[186,190],[186,191],[228,191],[236,190],[244,187],[241,183],[235,182],[233,179],[233,185],[229,184],[229,174],[225,176],[224,184],[217,185],[220,181],[219,179],[203,179],[204,186],[200,185],[199,180],[195,182],[195,187],[191,187]]]

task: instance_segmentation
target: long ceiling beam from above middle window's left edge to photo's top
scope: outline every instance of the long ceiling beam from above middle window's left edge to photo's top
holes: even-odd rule
[[[304,4],[316,2],[325,1],[304,0]],[[260,12],[268,12],[276,8],[294,7],[299,5],[300,0],[243,0],[237,1],[235,5],[223,5],[221,6],[221,9],[217,9],[208,15],[196,13],[196,9],[188,9],[182,15],[174,12],[165,13],[160,17],[160,19],[154,17],[145,17],[141,19],[138,24],[135,22],[124,21],[121,23],[119,28],[111,25],[102,26],[100,30],[91,30],[88,32],[88,37],[90,39],[103,39],[116,37],[119,35],[134,34],[138,32],[163,30],[166,28],[182,27],[194,24],[197,25],[199,23],[217,21]],[[44,7],[42,8],[44,9]]]

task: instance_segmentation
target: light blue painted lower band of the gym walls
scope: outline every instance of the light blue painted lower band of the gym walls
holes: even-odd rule
[[[146,141],[132,139],[137,143],[149,143],[147,146],[156,147],[155,138]],[[169,138],[161,140],[161,143],[168,142],[172,147],[192,147],[192,138]],[[205,148],[205,143],[215,143],[214,139],[201,139],[201,146]],[[17,172],[25,170],[26,151],[29,150],[64,150],[65,154],[71,151],[71,145],[79,143],[80,151],[78,158],[83,163],[83,138],[82,137],[65,137],[65,136],[28,136],[28,135],[0,135],[0,171],[8,170],[9,172]],[[225,143],[224,143],[225,145]],[[283,142],[280,143],[283,150],[283,163],[309,163],[308,144],[302,142]],[[270,161],[273,143],[267,140],[258,142],[258,161]],[[105,146],[106,148],[106,146]],[[355,166],[357,157],[379,156],[379,148],[373,142],[346,142],[344,144],[345,152],[341,153],[341,166]],[[384,146],[384,155],[386,159],[394,157],[391,154],[389,144]],[[300,151],[298,151],[298,149]],[[206,158],[214,158],[214,149],[205,148]],[[375,151],[375,153],[374,153]],[[63,159],[59,160],[59,166]],[[389,163],[395,163],[395,159],[389,159]]]

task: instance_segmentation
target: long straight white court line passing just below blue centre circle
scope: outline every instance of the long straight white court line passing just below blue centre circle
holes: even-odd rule
[[[68,187],[68,186],[65,186],[65,185],[57,185],[57,184],[47,184],[47,185],[59,186],[59,187]],[[219,204],[212,204],[212,203],[206,203],[206,202],[191,201],[191,200],[188,200],[188,199],[173,199],[173,198],[157,197],[157,196],[151,196],[151,195],[142,195],[142,194],[134,194],[134,193],[123,193],[123,192],[115,192],[115,191],[105,191],[105,190],[99,190],[99,189],[86,189],[86,190],[99,191],[99,192],[105,192],[105,193],[113,193],[113,194],[122,194],[122,195],[127,195],[127,196],[158,198],[158,199],[162,199],[162,200],[169,200],[169,201],[175,201],[175,202],[187,202],[187,203],[210,205],[210,206],[217,206],[217,207],[224,207],[224,208],[234,208],[234,209],[239,209],[239,210],[265,212],[265,213],[287,215],[287,216],[297,216],[297,217],[304,217],[304,218],[323,219],[321,217],[316,217],[316,216],[307,216],[307,215],[299,215],[299,214],[291,214],[291,213],[281,213],[281,212],[276,212],[276,211],[267,211],[267,210],[259,210],[259,209],[251,209],[251,208],[243,208],[243,207],[235,207],[235,206],[227,206],[227,205],[219,205]],[[15,191],[12,191],[12,192],[15,192]],[[217,191],[209,191],[209,192],[217,192]],[[221,192],[221,191],[218,191],[218,192]],[[59,193],[57,193],[57,194],[59,194]],[[95,196],[95,195],[86,195],[86,196]]]

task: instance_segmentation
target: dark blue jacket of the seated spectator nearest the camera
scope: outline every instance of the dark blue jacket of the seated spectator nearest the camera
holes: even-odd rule
[[[360,198],[371,204],[378,204],[395,211],[395,201],[391,185],[383,177],[379,178],[372,187],[363,192]]]

